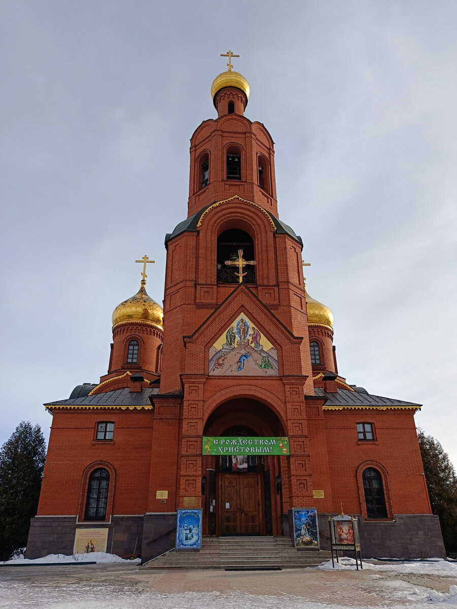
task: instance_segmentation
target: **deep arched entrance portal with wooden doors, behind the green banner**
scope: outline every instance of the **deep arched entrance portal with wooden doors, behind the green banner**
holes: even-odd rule
[[[277,415],[257,400],[236,398],[208,417],[204,435],[278,437],[284,430]],[[278,535],[281,496],[277,480],[285,457],[257,455],[204,456],[207,477],[204,523],[209,535]]]

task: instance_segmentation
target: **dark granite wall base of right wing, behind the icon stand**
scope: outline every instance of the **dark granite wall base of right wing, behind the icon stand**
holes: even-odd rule
[[[329,514],[319,514],[319,538],[322,550],[330,550]],[[330,514],[335,516],[335,514]],[[360,546],[366,558],[445,558],[439,526],[433,514],[395,514],[395,520],[359,521]],[[348,553],[353,556],[353,552]]]

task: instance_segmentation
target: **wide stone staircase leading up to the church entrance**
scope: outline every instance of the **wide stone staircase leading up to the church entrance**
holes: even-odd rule
[[[260,571],[303,568],[329,559],[330,552],[297,551],[288,537],[204,537],[199,552],[170,550],[143,568]]]

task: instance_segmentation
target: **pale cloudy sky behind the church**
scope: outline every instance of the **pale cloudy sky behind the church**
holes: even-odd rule
[[[241,55],[280,217],[335,315],[340,373],[423,404],[457,463],[457,4],[9,0],[1,7],[1,429],[107,370],[111,314],[163,297],[189,139]],[[151,268],[152,267],[152,268]]]

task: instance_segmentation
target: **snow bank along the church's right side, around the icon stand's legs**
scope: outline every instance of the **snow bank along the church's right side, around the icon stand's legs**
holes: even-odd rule
[[[317,565],[317,567],[311,567],[313,569],[322,569],[323,571],[333,571],[331,566],[331,560]],[[339,563],[335,560],[335,569],[340,571],[351,571],[355,569],[355,559],[344,556],[339,558]],[[411,562],[395,562],[395,563],[367,563],[363,561],[364,569],[372,569],[373,571],[384,571],[390,573],[417,573],[419,575],[439,575],[444,577],[456,577],[457,578],[457,563],[450,563],[444,558],[429,558],[428,560],[414,560]]]

